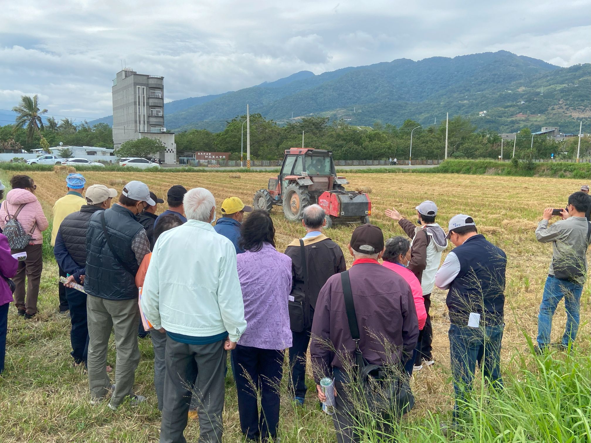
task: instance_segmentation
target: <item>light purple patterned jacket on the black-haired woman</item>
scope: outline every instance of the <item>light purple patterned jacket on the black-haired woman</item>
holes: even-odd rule
[[[261,349],[291,347],[291,259],[269,243],[238,254],[238,278],[244,300],[246,331],[238,344]]]

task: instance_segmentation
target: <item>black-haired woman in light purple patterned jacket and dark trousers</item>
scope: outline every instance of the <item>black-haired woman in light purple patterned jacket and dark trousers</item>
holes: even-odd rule
[[[240,426],[247,439],[275,441],[284,351],[292,337],[291,259],[275,249],[267,211],[253,211],[242,223],[240,243],[246,252],[236,259],[247,325],[232,351]],[[260,418],[255,389],[261,395]]]

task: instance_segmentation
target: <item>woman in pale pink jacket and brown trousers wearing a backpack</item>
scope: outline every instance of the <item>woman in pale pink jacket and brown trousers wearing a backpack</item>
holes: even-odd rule
[[[17,275],[13,279],[16,289],[14,291],[14,304],[17,306],[18,315],[25,318],[33,318],[37,314],[37,298],[39,297],[39,284],[41,282],[41,271],[43,271],[43,231],[49,223],[41,203],[35,197],[35,185],[33,178],[28,175],[13,175],[10,184],[11,191],[8,191],[6,200],[0,207],[0,227],[4,226],[22,206],[17,220],[26,233],[33,236],[31,242],[21,250],[12,250],[12,253],[26,252],[27,259],[18,262]],[[25,302],[25,276],[27,276],[27,297]]]

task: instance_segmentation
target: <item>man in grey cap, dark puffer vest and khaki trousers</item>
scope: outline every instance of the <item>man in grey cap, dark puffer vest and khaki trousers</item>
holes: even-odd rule
[[[138,289],[135,274],[147,253],[150,242],[144,227],[135,217],[147,205],[156,202],[141,181],[125,185],[119,203],[90,218],[86,232],[88,381],[90,404],[100,403],[112,390],[109,408],[116,409],[126,397],[133,403],[145,401],[134,395],[135,369],[139,363]],[[106,372],[107,347],[111,328],[115,329],[117,366],[115,386]]]

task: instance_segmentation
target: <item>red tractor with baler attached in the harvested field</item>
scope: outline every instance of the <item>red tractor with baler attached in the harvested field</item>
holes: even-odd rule
[[[332,152],[324,149],[291,148],[285,151],[278,177],[269,178],[267,189],[256,191],[255,209],[283,207],[290,222],[298,222],[310,204],[326,211],[326,226],[369,223],[371,200],[367,194],[345,191],[345,177],[337,177]]]

